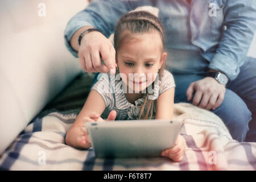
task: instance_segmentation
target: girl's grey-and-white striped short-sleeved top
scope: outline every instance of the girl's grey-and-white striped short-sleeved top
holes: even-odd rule
[[[118,79],[118,77],[120,78],[119,74],[117,75],[117,73],[112,76],[110,76],[109,72],[100,73],[100,75],[98,75],[98,81],[91,88],[91,90],[96,90],[105,102],[106,108],[101,114],[101,117],[106,119],[108,118],[110,111],[115,110],[117,111],[117,117],[115,120],[138,119],[146,94],[143,94],[142,98],[138,98],[138,100],[135,100],[134,104],[132,104],[127,100],[125,92],[123,92],[121,85],[125,84],[121,79]],[[156,113],[157,98],[164,91],[174,87],[174,77],[167,70],[164,70],[162,78],[156,78],[154,81],[154,93],[150,98],[154,100],[152,119],[154,119]],[[147,110],[147,105],[145,107],[145,110]]]

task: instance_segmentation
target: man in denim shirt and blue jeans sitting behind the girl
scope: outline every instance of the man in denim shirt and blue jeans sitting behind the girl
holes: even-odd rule
[[[256,59],[246,55],[256,29],[256,2],[92,1],[65,30],[65,43],[79,56],[84,71],[106,73],[115,68],[115,50],[108,38],[121,15],[140,6],[159,9],[166,32],[166,69],[175,78],[176,102],[213,111],[240,142],[250,122],[246,141],[255,142]]]

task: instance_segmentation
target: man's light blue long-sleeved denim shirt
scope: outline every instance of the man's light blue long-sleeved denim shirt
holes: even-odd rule
[[[185,0],[94,0],[69,20],[66,46],[78,57],[69,40],[79,28],[93,26],[109,38],[119,18],[140,6],[159,9],[166,49],[170,57],[185,55],[181,65],[188,70],[184,73],[190,66],[201,65],[224,72],[230,80],[237,77],[256,29],[255,0],[191,0],[191,4]]]

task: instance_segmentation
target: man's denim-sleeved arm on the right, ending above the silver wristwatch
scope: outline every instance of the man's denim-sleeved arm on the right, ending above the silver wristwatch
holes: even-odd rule
[[[253,40],[256,29],[256,2],[226,1],[224,15],[224,25],[227,29],[223,32],[209,68],[224,72],[230,80],[234,80]]]

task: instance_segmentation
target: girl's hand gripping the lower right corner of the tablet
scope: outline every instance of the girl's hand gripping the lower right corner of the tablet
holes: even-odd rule
[[[183,137],[180,135],[177,137],[175,146],[172,148],[167,148],[162,152],[163,157],[172,159],[174,162],[180,162],[183,159],[185,153],[186,143]]]

